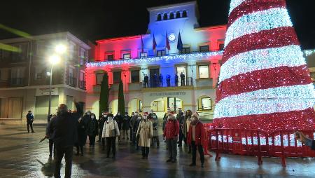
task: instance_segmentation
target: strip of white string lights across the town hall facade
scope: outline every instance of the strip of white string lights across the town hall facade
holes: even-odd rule
[[[105,61],[105,62],[89,62],[87,63],[87,68],[99,68],[106,66],[120,66],[122,64],[150,64],[155,62],[181,62],[189,60],[204,60],[205,58],[214,57],[217,55],[222,55],[222,51],[213,51],[207,53],[190,53],[190,54],[180,54],[180,55],[165,55],[158,57],[146,57],[139,59],[130,59],[130,60],[114,60],[114,61]]]

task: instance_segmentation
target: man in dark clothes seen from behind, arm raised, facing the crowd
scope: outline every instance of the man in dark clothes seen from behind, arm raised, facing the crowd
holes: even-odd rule
[[[76,113],[69,113],[66,104],[60,104],[57,116],[51,121],[48,132],[52,130],[52,140],[55,144],[55,177],[60,177],[62,158],[66,160],[65,176],[71,177],[73,145],[78,139],[78,118],[83,114],[83,107],[78,102]],[[46,135],[48,137],[48,135]]]

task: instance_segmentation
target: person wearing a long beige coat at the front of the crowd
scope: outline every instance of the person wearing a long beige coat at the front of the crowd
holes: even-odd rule
[[[151,138],[153,137],[153,125],[148,119],[148,113],[144,114],[144,119],[139,124],[137,137],[139,137],[139,146],[141,146],[142,159],[148,159]]]

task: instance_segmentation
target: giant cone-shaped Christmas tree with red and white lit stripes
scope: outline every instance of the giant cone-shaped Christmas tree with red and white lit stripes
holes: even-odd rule
[[[314,85],[285,0],[232,0],[216,128],[313,129]]]

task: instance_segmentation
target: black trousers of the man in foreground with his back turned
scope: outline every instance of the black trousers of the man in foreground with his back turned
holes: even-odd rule
[[[62,158],[66,160],[66,167],[65,167],[65,175],[64,177],[71,177],[71,169],[72,169],[72,156],[73,156],[73,146],[67,147],[55,147],[56,156],[55,156],[55,172],[54,176],[56,178],[60,177],[60,167]]]

